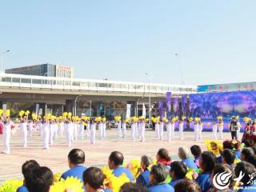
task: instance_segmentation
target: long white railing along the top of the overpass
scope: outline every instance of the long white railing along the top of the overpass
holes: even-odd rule
[[[54,78],[22,74],[0,74],[0,86],[51,89],[51,90],[91,90],[98,92],[191,94],[197,86],[167,85],[143,82],[118,82],[83,78]]]

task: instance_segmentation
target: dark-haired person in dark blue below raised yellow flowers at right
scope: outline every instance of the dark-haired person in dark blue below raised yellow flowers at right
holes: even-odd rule
[[[198,182],[202,192],[207,192],[207,190],[211,188],[210,174],[214,170],[216,162],[216,157],[212,152],[204,151],[202,153],[201,160],[199,162],[202,173],[198,175],[198,178],[196,178],[196,182]]]

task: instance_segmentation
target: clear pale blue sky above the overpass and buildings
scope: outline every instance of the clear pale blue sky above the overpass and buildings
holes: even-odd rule
[[[5,68],[74,66],[78,78],[180,84],[256,78],[254,0],[6,0]],[[178,56],[174,54],[178,53]]]

